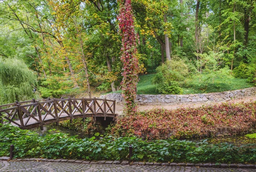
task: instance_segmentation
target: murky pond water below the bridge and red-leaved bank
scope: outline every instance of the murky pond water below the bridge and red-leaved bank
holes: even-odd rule
[[[58,133],[58,132],[66,133],[66,134],[69,134],[70,136],[77,135],[77,138],[88,138],[93,136],[93,135],[88,135],[88,133],[79,132],[76,130],[70,130],[64,127],[57,127],[55,124],[49,124],[44,126],[43,131],[41,131],[40,128],[35,128],[32,130],[41,136]],[[200,142],[201,140],[204,140],[204,139],[206,138],[180,139],[180,140]],[[241,146],[244,144],[256,144],[256,138],[248,138],[245,135],[233,135],[233,136],[222,136],[222,137],[216,137],[216,138],[207,138],[207,142],[209,144],[228,143],[228,144],[234,144],[236,146]]]

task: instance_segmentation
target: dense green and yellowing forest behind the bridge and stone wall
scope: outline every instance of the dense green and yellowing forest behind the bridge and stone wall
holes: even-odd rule
[[[132,0],[138,92],[255,85],[255,7],[255,0]],[[116,0],[0,0],[0,104],[120,90],[118,13]]]

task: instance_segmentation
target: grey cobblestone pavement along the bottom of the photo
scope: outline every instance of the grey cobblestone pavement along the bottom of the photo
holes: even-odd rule
[[[0,172],[256,172],[256,169],[0,161]]]

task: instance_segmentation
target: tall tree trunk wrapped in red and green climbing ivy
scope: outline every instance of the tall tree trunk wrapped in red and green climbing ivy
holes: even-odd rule
[[[138,83],[139,61],[136,56],[136,34],[134,30],[134,15],[131,7],[131,0],[119,0],[119,29],[122,36],[122,48],[120,59],[122,68],[122,90],[126,102],[126,113],[136,113],[136,92]]]

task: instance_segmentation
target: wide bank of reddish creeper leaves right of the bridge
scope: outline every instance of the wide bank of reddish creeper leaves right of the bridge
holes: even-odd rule
[[[154,109],[123,116],[112,128],[116,136],[196,138],[247,133],[256,127],[256,102],[223,103],[177,110]]]

